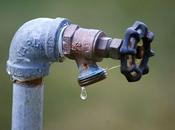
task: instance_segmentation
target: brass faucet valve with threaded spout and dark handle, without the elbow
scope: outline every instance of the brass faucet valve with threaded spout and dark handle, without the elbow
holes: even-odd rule
[[[123,40],[110,38],[100,30],[71,24],[63,33],[63,54],[76,61],[80,86],[93,84],[106,77],[106,70],[96,64],[103,58],[120,59],[121,72],[129,82],[134,82],[142,74],[148,73],[148,59],[154,54],[150,48],[153,37],[147,26],[139,21],[127,29]],[[140,40],[143,40],[142,45],[137,44]],[[139,66],[135,62],[137,58],[142,59]]]

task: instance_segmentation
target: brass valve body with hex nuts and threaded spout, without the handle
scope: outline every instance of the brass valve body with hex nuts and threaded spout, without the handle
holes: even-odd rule
[[[63,34],[63,52],[74,59],[79,68],[78,82],[87,86],[106,78],[106,70],[96,62],[103,58],[119,58],[120,39],[112,39],[100,30],[68,26]]]

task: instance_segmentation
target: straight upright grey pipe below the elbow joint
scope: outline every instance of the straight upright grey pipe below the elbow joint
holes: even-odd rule
[[[42,130],[44,85],[13,84],[12,130]]]

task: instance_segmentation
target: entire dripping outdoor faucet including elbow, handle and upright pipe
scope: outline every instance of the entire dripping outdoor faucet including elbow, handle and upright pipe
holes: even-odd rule
[[[12,130],[42,129],[42,80],[53,62],[63,62],[65,57],[75,60],[81,88],[106,78],[106,70],[96,64],[103,58],[120,60],[121,73],[134,82],[149,72],[153,38],[154,34],[139,21],[126,30],[123,39],[81,28],[65,18],[26,22],[12,39],[7,61],[7,72],[13,81]]]

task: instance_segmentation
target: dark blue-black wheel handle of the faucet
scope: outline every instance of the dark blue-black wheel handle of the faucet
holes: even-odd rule
[[[151,50],[151,42],[154,34],[148,31],[147,26],[136,21],[126,30],[125,37],[120,47],[121,73],[129,82],[140,80],[141,76],[149,72],[149,57],[154,53]],[[139,44],[142,40],[143,44]],[[136,59],[140,59],[137,65]]]

